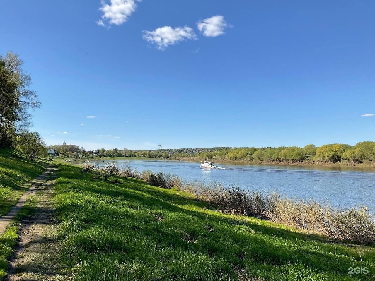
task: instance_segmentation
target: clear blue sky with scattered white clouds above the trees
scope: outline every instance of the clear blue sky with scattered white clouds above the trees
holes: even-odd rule
[[[354,145],[375,140],[375,117],[362,117],[375,113],[374,12],[374,1],[3,1],[0,53],[24,60],[47,144]]]

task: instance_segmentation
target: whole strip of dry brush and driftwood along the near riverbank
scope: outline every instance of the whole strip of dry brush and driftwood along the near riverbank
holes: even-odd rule
[[[334,208],[315,200],[291,199],[275,192],[245,190],[237,185],[183,182],[177,175],[164,172],[138,172],[131,166],[119,169],[114,162],[107,163],[104,168],[86,164],[84,172],[113,183],[118,182],[118,176],[138,178],[156,187],[194,194],[223,213],[257,217],[341,241],[375,244],[375,217],[366,206]]]

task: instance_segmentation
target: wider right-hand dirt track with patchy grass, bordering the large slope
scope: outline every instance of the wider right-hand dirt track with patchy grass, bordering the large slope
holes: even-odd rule
[[[53,183],[48,181],[37,188],[38,206],[35,214],[21,223],[15,255],[10,260],[9,281],[71,279],[59,268],[61,247],[51,202]]]

